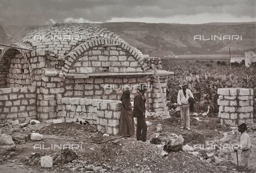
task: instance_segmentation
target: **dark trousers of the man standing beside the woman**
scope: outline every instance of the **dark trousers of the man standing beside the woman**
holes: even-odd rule
[[[145,117],[137,118],[137,130],[136,130],[136,138],[137,141],[147,141],[147,124]]]

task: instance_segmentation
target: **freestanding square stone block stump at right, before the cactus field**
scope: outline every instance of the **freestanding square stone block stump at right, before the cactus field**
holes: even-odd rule
[[[253,125],[253,89],[219,88],[219,117],[231,126]]]

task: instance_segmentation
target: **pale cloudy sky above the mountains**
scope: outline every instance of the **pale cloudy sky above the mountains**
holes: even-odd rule
[[[0,25],[255,22],[255,0],[0,0]]]

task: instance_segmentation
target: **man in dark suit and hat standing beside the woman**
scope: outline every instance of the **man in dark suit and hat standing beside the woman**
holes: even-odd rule
[[[145,103],[147,101],[145,97],[145,92],[148,90],[145,84],[140,84],[137,87],[139,92],[134,96],[134,108],[133,108],[133,117],[137,118],[137,129],[136,129],[136,138],[137,141],[147,141],[147,124],[145,119],[146,106]]]

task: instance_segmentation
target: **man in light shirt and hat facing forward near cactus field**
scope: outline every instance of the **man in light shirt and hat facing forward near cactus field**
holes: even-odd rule
[[[188,98],[193,97],[190,89],[187,89],[187,82],[185,80],[182,81],[180,87],[182,88],[179,90],[178,93],[178,105],[180,105],[180,116],[181,116],[181,129],[186,127],[187,130],[190,129],[190,118],[189,118],[189,102]]]

